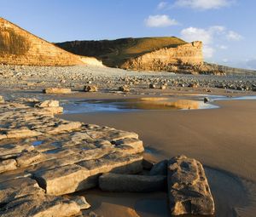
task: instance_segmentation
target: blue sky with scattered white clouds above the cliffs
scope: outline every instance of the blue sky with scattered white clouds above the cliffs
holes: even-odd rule
[[[200,40],[208,62],[256,69],[255,0],[0,0],[0,17],[49,42]]]

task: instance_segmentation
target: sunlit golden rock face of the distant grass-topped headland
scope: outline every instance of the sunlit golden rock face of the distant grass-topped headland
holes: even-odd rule
[[[143,71],[188,71],[203,64],[202,43],[186,43],[176,48],[158,49],[126,60],[123,69]]]

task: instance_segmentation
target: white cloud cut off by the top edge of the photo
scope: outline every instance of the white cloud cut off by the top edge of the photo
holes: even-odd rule
[[[174,6],[192,9],[220,9],[230,6],[234,0],[176,0]]]

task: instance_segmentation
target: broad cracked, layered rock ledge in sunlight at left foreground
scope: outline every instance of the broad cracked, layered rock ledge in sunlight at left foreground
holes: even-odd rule
[[[57,101],[0,104],[0,215],[76,216],[102,173],[142,170],[143,142],[115,128],[54,117]],[[34,105],[37,106],[34,106]]]

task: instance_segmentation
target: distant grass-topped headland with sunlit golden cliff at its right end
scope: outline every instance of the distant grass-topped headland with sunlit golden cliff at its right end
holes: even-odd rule
[[[110,67],[193,73],[203,65],[202,43],[177,37],[121,38],[56,43],[73,54],[94,56]]]

